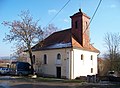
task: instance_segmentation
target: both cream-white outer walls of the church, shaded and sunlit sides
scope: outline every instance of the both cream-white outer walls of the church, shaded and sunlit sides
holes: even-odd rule
[[[61,64],[56,64],[57,54],[61,54]],[[43,64],[43,56],[47,55],[48,63]],[[81,60],[81,54],[84,58]],[[36,61],[42,63],[39,68],[35,66],[36,69],[40,69],[40,72],[48,75],[56,76],[56,67],[61,67],[61,75],[68,79],[75,79],[80,76],[95,75],[97,74],[97,55],[98,53],[80,50],[80,49],[55,49],[55,50],[44,50],[35,51]],[[91,60],[91,55],[93,55],[93,60]],[[59,62],[59,63],[60,63]],[[93,68],[93,73],[91,73],[91,68]]]

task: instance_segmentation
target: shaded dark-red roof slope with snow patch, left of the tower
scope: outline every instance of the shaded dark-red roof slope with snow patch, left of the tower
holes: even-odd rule
[[[32,50],[46,50],[46,49],[51,49],[53,45],[57,44],[68,44],[71,43],[71,29],[55,32],[48,36],[46,39],[43,41],[39,42],[37,45],[35,45]],[[71,45],[67,46],[71,47]],[[52,47],[53,48],[58,48],[58,47]],[[59,48],[64,48],[64,47],[59,47]]]

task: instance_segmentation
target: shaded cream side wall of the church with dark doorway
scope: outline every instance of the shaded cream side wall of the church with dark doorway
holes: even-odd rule
[[[42,62],[42,71],[40,71],[44,74],[56,76],[56,67],[61,67],[61,76],[70,78],[70,50],[71,48],[34,51],[33,55],[35,55],[36,61]],[[58,53],[61,54],[61,61],[56,61]],[[47,64],[43,64],[44,54],[47,55]],[[38,69],[37,66],[35,68]]]

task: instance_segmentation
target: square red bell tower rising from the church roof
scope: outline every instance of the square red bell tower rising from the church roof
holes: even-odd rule
[[[83,46],[89,47],[89,22],[90,18],[79,9],[71,18],[71,29],[73,37]]]

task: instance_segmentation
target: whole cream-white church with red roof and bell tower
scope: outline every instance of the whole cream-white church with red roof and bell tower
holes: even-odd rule
[[[51,34],[32,48],[38,73],[68,79],[98,73],[99,50],[90,44],[90,18],[81,9],[70,18],[71,28]]]

